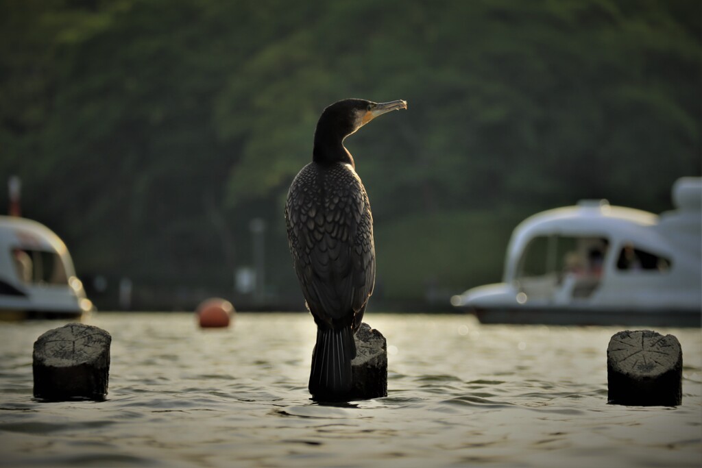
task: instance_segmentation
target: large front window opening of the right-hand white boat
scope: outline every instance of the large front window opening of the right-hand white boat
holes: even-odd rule
[[[519,288],[529,300],[589,297],[600,285],[608,248],[604,237],[536,236],[519,260]]]

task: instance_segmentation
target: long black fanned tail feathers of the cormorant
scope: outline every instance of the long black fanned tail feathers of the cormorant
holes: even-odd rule
[[[312,352],[310,393],[317,401],[348,401],[351,396],[351,360],[356,344],[350,326],[340,330],[317,328]]]

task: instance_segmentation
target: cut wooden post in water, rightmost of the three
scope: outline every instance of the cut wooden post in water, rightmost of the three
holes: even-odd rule
[[[673,335],[621,331],[607,346],[608,403],[677,406],[682,403],[682,349]]]

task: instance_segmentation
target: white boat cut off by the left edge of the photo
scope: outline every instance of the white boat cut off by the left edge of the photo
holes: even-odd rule
[[[65,243],[39,222],[0,216],[0,319],[77,319],[91,310]]]

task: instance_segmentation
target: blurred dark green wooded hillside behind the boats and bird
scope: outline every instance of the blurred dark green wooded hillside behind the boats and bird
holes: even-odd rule
[[[498,279],[537,210],[671,208],[701,173],[701,18],[697,0],[0,0],[0,176],[84,279],[130,278],[134,307],[245,301],[260,218],[267,300],[302,308],[282,206],[317,118],[405,99],[347,140],[374,300],[445,301]]]

